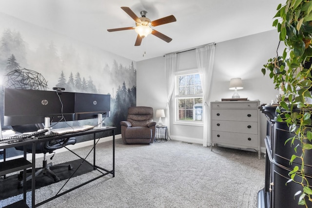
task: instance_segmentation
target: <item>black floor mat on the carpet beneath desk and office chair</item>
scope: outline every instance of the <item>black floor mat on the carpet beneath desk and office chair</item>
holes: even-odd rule
[[[77,169],[77,167],[80,165],[81,161],[82,161],[81,159],[78,159],[78,160],[74,160],[74,161],[64,163],[64,164],[71,164],[73,166],[73,170],[68,170],[66,168],[62,168],[59,170],[54,170],[54,172],[59,176],[59,179],[61,181],[68,179],[73,174],[73,172]],[[87,163],[82,163],[82,165],[75,172],[73,177],[85,174],[87,172],[91,172],[92,170],[93,170],[92,166],[90,166]],[[27,173],[27,175],[28,175],[28,173]],[[36,189],[39,189],[39,188],[44,187],[44,186],[48,186],[48,185],[53,184],[53,183],[55,183],[53,178],[51,178],[50,176],[47,176],[47,175],[43,175],[42,173],[36,177]],[[27,184],[27,191],[30,191],[31,190],[31,180],[27,181],[26,184]],[[0,200],[23,193],[23,189],[22,188],[18,189],[18,185],[19,185],[18,174],[7,176],[5,179],[3,179],[3,177],[1,177],[1,179],[0,179]]]

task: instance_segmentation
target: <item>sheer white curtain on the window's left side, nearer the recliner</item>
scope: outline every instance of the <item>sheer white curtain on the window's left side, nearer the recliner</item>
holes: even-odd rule
[[[171,139],[170,134],[170,100],[175,88],[176,75],[176,53],[166,55],[166,72],[167,72],[167,106],[166,114],[168,119],[168,139]]]

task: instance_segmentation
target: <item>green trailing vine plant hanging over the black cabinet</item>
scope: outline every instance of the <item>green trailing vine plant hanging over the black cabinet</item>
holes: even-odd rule
[[[286,0],[279,4],[274,16],[273,26],[277,28],[280,41],[286,48],[281,57],[268,60],[262,69],[263,75],[270,72],[275,89],[280,89],[279,106],[276,108],[277,121],[286,122],[293,137],[288,138],[295,154],[290,163],[300,160],[300,167],[294,166],[289,172],[288,183],[298,183],[301,190],[295,193],[298,205],[307,206],[307,200],[312,202],[312,189],[305,175],[306,151],[312,149],[312,1]],[[298,141],[298,145],[294,145]],[[298,150],[302,151],[298,151]]]

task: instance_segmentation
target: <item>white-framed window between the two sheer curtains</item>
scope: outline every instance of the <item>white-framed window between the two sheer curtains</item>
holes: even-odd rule
[[[176,76],[176,122],[202,123],[202,103],[199,74]]]

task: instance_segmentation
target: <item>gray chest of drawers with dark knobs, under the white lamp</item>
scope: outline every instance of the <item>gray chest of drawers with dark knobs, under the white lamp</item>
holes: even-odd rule
[[[211,142],[239,149],[260,149],[260,101],[211,102]]]

